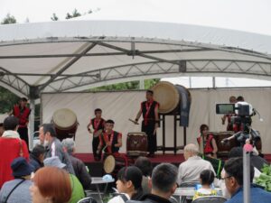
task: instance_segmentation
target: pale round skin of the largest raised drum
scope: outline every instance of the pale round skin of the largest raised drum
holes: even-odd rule
[[[178,106],[180,95],[172,83],[158,82],[152,90],[154,91],[154,100],[160,104],[159,113],[170,113]]]

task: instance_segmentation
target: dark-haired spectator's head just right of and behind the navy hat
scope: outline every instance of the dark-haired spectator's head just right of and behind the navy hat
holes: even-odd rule
[[[45,148],[42,144],[34,146],[32,153],[30,153],[30,164],[33,165],[34,171],[37,171],[44,166],[44,154]]]

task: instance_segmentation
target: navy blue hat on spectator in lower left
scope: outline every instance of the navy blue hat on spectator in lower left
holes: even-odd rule
[[[23,157],[14,159],[14,161],[12,161],[11,168],[13,170],[14,177],[28,176],[34,171],[33,166]]]

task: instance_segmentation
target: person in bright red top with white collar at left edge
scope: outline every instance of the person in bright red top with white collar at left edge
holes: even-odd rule
[[[0,137],[0,189],[5,181],[14,180],[10,167],[12,161],[19,156],[29,160],[27,145],[17,133],[18,119],[14,116],[8,116],[3,125],[5,132]]]

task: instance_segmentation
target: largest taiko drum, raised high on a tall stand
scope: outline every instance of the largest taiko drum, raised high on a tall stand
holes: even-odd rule
[[[191,94],[189,90],[183,86],[174,86],[170,82],[162,81],[158,82],[152,90],[154,91],[154,100],[160,104],[160,114],[169,114],[179,111],[181,104],[185,107],[185,105],[191,103]]]

